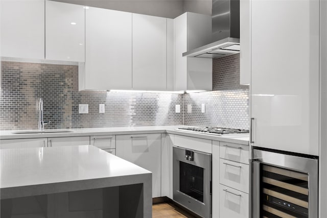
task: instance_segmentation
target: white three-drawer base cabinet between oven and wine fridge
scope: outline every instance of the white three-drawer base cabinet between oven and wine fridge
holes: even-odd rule
[[[212,217],[249,217],[249,148],[213,141]]]

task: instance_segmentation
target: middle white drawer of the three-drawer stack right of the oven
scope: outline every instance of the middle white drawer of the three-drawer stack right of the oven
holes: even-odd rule
[[[230,160],[219,161],[219,182],[223,185],[249,192],[249,165]]]

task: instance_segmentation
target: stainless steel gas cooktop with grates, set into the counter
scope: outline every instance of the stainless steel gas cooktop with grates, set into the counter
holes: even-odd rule
[[[230,129],[230,128],[222,128],[222,127],[183,127],[183,128],[178,128],[177,130],[200,132],[200,133],[211,133],[217,135],[249,133],[249,130]]]

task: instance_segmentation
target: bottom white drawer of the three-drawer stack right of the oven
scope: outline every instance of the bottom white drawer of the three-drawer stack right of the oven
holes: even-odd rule
[[[248,218],[249,217],[249,195],[242,191],[219,186],[220,218]]]

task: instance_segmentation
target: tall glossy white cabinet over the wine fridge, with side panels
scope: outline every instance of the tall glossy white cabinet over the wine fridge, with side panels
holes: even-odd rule
[[[251,146],[319,156],[319,217],[326,217],[327,2],[240,1]]]

